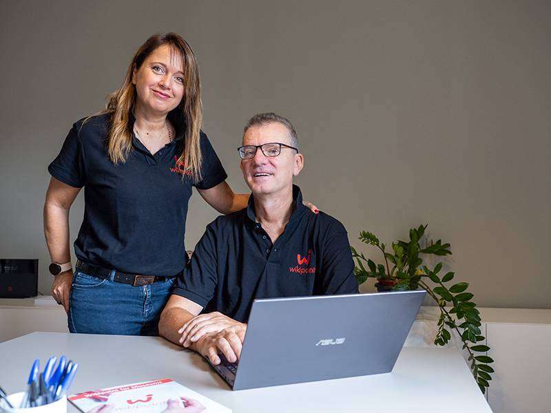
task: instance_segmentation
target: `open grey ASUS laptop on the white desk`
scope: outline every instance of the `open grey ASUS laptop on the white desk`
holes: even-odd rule
[[[233,390],[391,372],[425,294],[256,299],[239,361],[211,366]]]

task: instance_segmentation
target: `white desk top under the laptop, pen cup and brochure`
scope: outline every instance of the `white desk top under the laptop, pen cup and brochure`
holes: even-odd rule
[[[61,354],[81,365],[72,393],[166,377],[234,413],[491,412],[461,354],[448,348],[404,348],[389,374],[233,392],[198,354],[160,337],[34,332],[0,343],[0,385],[23,390],[35,358]]]

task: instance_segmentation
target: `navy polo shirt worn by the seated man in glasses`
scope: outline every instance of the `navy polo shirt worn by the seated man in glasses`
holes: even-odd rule
[[[358,292],[346,229],[302,204],[293,185],[294,211],[273,244],[249,206],[207,226],[191,262],[172,291],[241,322],[253,300]]]

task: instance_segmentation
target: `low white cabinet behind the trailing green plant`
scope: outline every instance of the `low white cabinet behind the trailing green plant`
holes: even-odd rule
[[[482,334],[495,360],[488,403],[499,413],[551,412],[551,310],[526,308],[479,308]],[[439,309],[419,310],[406,343],[410,347],[433,347]],[[457,335],[448,347],[461,348]],[[481,353],[477,353],[481,354]],[[467,354],[464,353],[464,357]]]

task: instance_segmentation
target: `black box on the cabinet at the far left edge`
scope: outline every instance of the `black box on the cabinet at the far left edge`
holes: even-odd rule
[[[39,260],[0,260],[0,298],[36,297]]]

